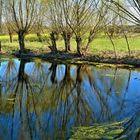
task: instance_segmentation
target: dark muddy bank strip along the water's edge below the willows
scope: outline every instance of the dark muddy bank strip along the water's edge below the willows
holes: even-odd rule
[[[7,55],[7,54],[5,54]],[[140,51],[131,52],[131,56],[128,53],[119,52],[117,53],[117,58],[115,58],[112,51],[100,52],[98,54],[90,54],[79,56],[76,53],[66,53],[66,52],[57,52],[57,53],[41,53],[36,54],[33,52],[28,53],[13,53],[13,56],[18,58],[41,58],[48,61],[65,61],[67,63],[107,63],[107,64],[125,64],[135,67],[140,67]]]

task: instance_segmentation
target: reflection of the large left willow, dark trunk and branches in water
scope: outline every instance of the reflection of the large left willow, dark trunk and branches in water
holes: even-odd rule
[[[1,112],[8,113],[10,119],[9,121],[11,121],[10,129],[9,127],[7,127],[7,133],[9,133],[7,136],[11,136],[11,139],[20,139],[23,136],[25,137],[25,139],[27,139],[28,137],[32,138],[32,130],[30,124],[32,122],[32,117],[30,112],[30,105],[31,103],[33,104],[33,98],[31,94],[32,86],[29,82],[29,76],[25,72],[25,65],[27,62],[26,60],[20,61],[17,76],[12,80],[10,77],[10,73],[15,70],[13,69],[13,65],[16,66],[16,64],[14,63],[14,61],[13,63],[9,62],[7,63],[7,67],[5,69],[5,75],[9,75],[9,79],[6,77],[6,82],[4,82],[4,85],[6,83],[4,94],[7,95],[8,93],[8,96],[1,107]],[[19,123],[20,125],[17,125],[17,123]],[[18,137],[15,137],[15,129],[19,126],[21,127],[19,128],[19,130],[17,130],[17,133],[19,133]]]

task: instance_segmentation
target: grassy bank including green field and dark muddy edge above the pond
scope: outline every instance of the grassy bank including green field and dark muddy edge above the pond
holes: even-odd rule
[[[47,36],[47,35],[46,35]],[[19,44],[17,36],[14,36],[13,43],[9,43],[8,36],[1,36],[2,52],[4,54],[15,54],[17,57],[40,57],[47,60],[59,60],[68,61],[71,63],[82,62],[97,62],[97,63],[110,63],[110,64],[129,64],[140,66],[140,36],[129,37],[129,45],[131,49],[131,56],[128,56],[128,47],[124,38],[114,38],[117,58],[114,55],[114,49],[112,43],[107,37],[96,38],[89,47],[89,50],[85,56],[79,57],[76,55],[76,42],[71,40],[71,52],[70,53],[50,53],[47,37],[44,41],[39,42],[36,35],[28,35],[25,40],[26,49],[30,49],[31,53],[25,55],[19,55]],[[49,38],[49,37],[48,37]],[[85,46],[86,41],[82,46]],[[60,38],[57,41],[58,50],[64,50],[64,42]]]

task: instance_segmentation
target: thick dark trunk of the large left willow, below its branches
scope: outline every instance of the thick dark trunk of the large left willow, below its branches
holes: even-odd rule
[[[20,51],[23,52],[25,50],[25,34],[23,31],[18,32],[18,41],[19,41],[19,46],[20,46]]]

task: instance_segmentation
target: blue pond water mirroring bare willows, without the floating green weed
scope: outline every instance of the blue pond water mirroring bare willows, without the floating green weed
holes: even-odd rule
[[[140,127],[140,69],[0,60],[0,139],[65,140],[72,129],[125,124]]]

